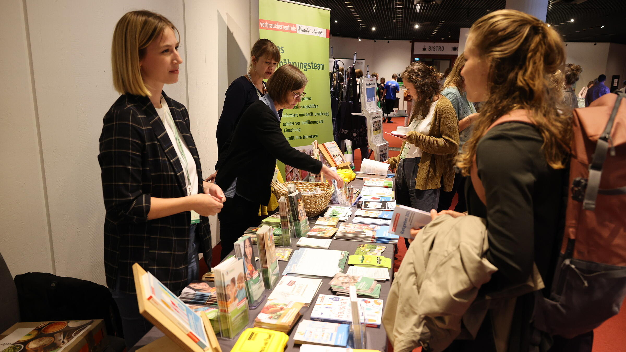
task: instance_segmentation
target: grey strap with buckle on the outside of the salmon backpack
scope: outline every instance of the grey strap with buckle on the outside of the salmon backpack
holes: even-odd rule
[[[617,92],[617,99],[615,105],[613,105],[613,111],[608,118],[607,126],[604,128],[604,132],[598,138],[598,143],[595,145],[595,152],[593,152],[592,162],[589,164],[589,180],[587,182],[587,190],[585,191],[585,200],[583,200],[583,209],[595,210],[595,200],[598,197],[598,191],[600,190],[600,178],[602,177],[602,167],[605,160],[607,160],[607,151],[610,146],[611,156],[615,156],[615,147],[611,140],[611,130],[613,129],[613,122],[615,122],[615,115],[620,108],[622,98],[625,98],[626,94]],[[621,187],[615,190],[602,190],[602,194],[622,194],[626,193],[626,187]]]

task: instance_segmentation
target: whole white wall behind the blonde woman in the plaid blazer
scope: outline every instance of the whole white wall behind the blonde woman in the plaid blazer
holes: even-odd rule
[[[0,113],[0,251],[13,275],[40,271],[105,282],[98,137],[118,97],[113,28],[135,9],[161,13],[180,31],[182,74],[164,89],[187,105],[203,174],[213,172],[223,93],[245,73],[259,36],[257,1],[1,2],[0,43],[11,54],[0,58],[0,89],[10,102]]]

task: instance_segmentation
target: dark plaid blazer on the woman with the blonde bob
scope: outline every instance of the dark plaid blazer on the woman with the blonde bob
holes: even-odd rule
[[[196,162],[202,193],[202,168],[187,108],[162,94]],[[137,262],[173,292],[182,290],[188,281],[190,212],[148,220],[150,197],[187,195],[182,165],[150,98],[125,94],[113,103],[104,118],[98,162],[106,208],[106,284],[134,293],[132,266]],[[208,217],[200,217],[198,225],[200,251],[210,267]]]

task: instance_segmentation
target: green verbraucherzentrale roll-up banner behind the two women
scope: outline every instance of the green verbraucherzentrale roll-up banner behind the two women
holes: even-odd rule
[[[259,38],[270,39],[280,48],[279,66],[294,65],[309,79],[300,105],[285,109],[280,120],[292,147],[310,145],[314,140],[332,141],[330,28],[328,9],[291,1],[259,0]]]

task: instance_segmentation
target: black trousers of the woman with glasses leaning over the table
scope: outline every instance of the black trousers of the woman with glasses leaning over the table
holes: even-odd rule
[[[222,241],[222,261],[233,251],[233,244],[248,227],[259,226],[259,204],[250,202],[235,194],[233,198],[226,198],[222,211],[217,213],[220,219],[220,241]]]

